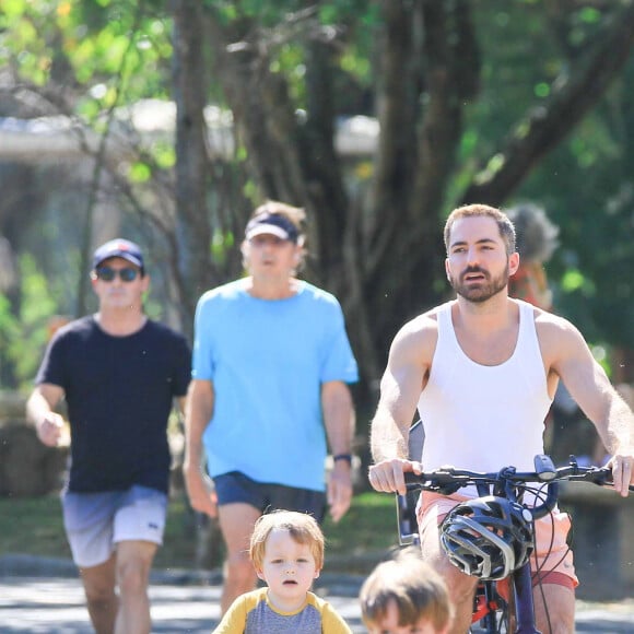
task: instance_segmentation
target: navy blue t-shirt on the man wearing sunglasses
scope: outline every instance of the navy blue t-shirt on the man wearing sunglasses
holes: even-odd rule
[[[93,316],[61,328],[36,377],[63,388],[71,426],[69,491],[167,492],[167,420],[191,376],[186,339],[156,321],[113,337]]]

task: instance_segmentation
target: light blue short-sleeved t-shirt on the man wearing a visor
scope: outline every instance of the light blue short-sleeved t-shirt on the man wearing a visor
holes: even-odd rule
[[[213,383],[209,474],[324,491],[321,384],[357,380],[339,302],[300,282],[259,300],[237,280],[208,291],[195,320],[192,377]]]

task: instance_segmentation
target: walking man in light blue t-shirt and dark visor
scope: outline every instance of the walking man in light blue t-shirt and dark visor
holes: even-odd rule
[[[337,521],[352,500],[347,384],[357,379],[356,362],[339,302],[295,278],[304,220],[281,202],[259,207],[242,246],[249,277],[208,291],[196,312],[184,470],[192,507],[219,515],[223,613],[255,587],[247,552],[260,515],[285,508],[321,520],[328,504]],[[333,470],[325,483],[327,445]]]

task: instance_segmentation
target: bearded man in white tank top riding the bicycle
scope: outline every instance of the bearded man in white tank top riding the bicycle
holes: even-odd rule
[[[531,470],[543,454],[543,422],[561,378],[596,425],[612,455],[614,489],[626,495],[634,483],[634,414],[570,321],[508,297],[519,266],[509,219],[483,204],[458,208],[447,219],[445,246],[457,298],[406,324],[392,342],[372,422],[372,486],[404,494],[404,472],[444,465]],[[421,462],[407,458],[416,407],[425,426]],[[438,524],[460,500],[425,493],[418,509],[423,557],[447,582],[456,634],[469,630],[478,579],[449,563]],[[543,632],[574,632],[578,582],[568,528],[567,515],[556,509],[537,523],[531,565],[539,568],[535,603]]]

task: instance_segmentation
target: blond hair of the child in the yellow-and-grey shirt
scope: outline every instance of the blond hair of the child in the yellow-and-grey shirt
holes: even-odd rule
[[[257,570],[262,567],[267,539],[274,529],[287,530],[297,543],[308,544],[317,570],[324,567],[325,539],[317,520],[306,513],[273,510],[258,518],[251,536],[249,555]]]

